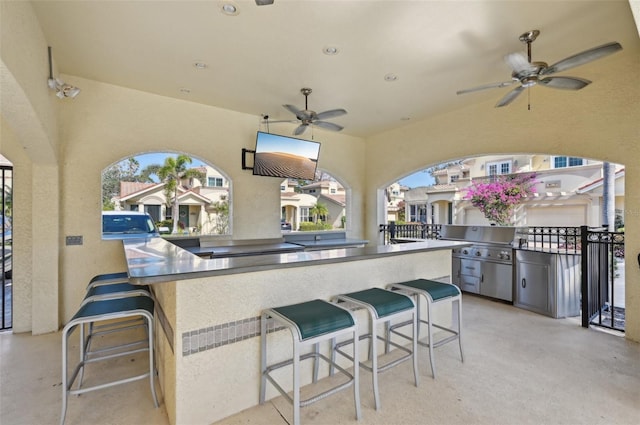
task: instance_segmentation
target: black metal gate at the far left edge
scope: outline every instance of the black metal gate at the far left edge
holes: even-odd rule
[[[12,268],[12,195],[13,195],[13,167],[0,165],[0,182],[2,183],[2,199],[0,207],[0,229],[2,229],[2,263],[0,263],[0,283],[2,284],[2,316],[0,317],[0,330],[10,329],[13,325],[13,268]]]

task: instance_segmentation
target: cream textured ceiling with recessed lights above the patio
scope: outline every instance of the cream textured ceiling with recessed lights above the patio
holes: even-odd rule
[[[236,16],[221,13],[222,4],[33,2],[60,73],[240,111],[257,122],[261,114],[293,119],[282,105],[303,109],[300,89],[310,87],[309,109],[346,109],[329,121],[356,136],[497,102],[511,88],[456,90],[508,81],[503,57],[525,52],[518,37],[528,30],[541,31],[533,60],[549,64],[610,41],[634,46],[616,55],[637,54],[638,45],[626,1],[236,0]],[[324,54],[327,46],[339,53]],[[607,69],[603,58],[561,75],[624,78]],[[397,80],[385,81],[389,73]],[[525,102],[521,96],[502,110]],[[271,131],[295,127],[272,124]]]

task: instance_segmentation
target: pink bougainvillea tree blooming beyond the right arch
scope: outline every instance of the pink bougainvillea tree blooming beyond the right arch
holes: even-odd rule
[[[535,173],[498,176],[490,182],[476,182],[467,188],[464,199],[478,208],[491,222],[500,226],[511,223],[516,206],[536,192]]]

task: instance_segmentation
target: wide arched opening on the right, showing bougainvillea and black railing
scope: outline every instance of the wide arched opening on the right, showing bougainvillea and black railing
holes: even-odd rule
[[[428,174],[428,178],[423,174]],[[572,286],[572,311],[583,314],[583,323],[586,320],[598,326],[624,330],[624,180],[625,168],[622,164],[578,156],[500,154],[461,158],[432,165],[418,173],[400,178],[389,188],[401,188],[399,203],[403,204],[405,215],[401,224],[407,224],[407,228],[402,230],[411,232],[413,224],[417,229],[406,238],[407,240],[440,237],[452,227],[465,227],[469,230],[489,225],[510,226],[515,232],[514,237],[503,241],[505,245],[502,251],[498,250],[492,258],[488,258],[491,256],[491,242],[495,241],[480,241],[484,243],[482,246],[487,248],[486,252],[481,251],[481,244],[472,245],[468,250],[469,255],[472,255],[473,251],[477,256],[472,260],[478,264],[483,261],[489,264],[498,259],[509,259],[509,267],[513,267],[513,272],[505,273],[507,277],[504,279],[514,276],[515,283],[520,282],[518,276],[521,275],[535,275],[541,284],[554,282],[553,274],[548,274],[551,273],[549,270],[552,270],[552,267],[556,267],[551,264],[563,264],[565,268],[557,272],[558,276],[563,276],[563,284]],[[413,187],[406,184],[416,181],[419,183],[414,183]],[[388,199],[379,201],[379,204],[389,211]],[[506,212],[502,218],[500,211]],[[444,225],[456,226],[440,227]],[[490,233],[491,230],[484,229],[484,233]],[[393,239],[397,241],[398,229],[395,223],[393,232],[396,235]],[[580,235],[585,233],[587,239],[583,240],[588,240],[587,243],[580,238]],[[558,235],[557,239],[554,235]],[[465,239],[468,242],[479,242],[468,237]],[[384,240],[387,240],[387,236]],[[587,250],[585,246],[594,250],[597,248],[597,258],[596,254],[592,255],[591,248]],[[534,264],[530,256],[524,254],[528,251],[536,252],[535,255],[542,253],[542,256],[535,257],[538,263]],[[560,255],[564,256],[555,257]],[[464,270],[460,269],[460,261],[464,265],[471,260],[462,255],[458,256],[456,268],[455,257],[456,255],[452,259],[452,282],[456,283],[456,276],[460,282],[467,282],[460,278],[461,274],[465,274]],[[540,258],[544,258],[545,261],[549,258],[549,264],[540,263]],[[552,262],[552,258],[555,262]],[[464,263],[465,261],[467,263]],[[581,281],[580,261],[587,265],[594,264],[597,274],[584,274],[588,277]],[[472,269],[469,264],[465,267]],[[493,276],[487,271],[487,266],[483,267],[477,267],[482,273],[478,273],[478,283],[474,284],[473,288],[480,294],[483,294],[483,285],[489,286],[487,283]],[[511,284],[507,282],[506,287],[511,287]],[[589,291],[597,290],[597,303],[601,300],[601,303],[593,308],[582,306],[582,313],[578,304],[581,287],[588,287]],[[512,294],[509,293],[501,299],[522,307],[524,297],[530,296],[533,290],[526,289],[526,286],[522,286],[521,289],[515,284],[513,288]],[[536,288],[540,294],[547,294],[545,291],[548,291],[548,294],[555,293],[547,287]],[[464,287],[462,289],[465,290]],[[567,289],[562,293],[570,291]],[[553,305],[554,301],[546,298],[544,294],[532,304],[536,304],[537,311],[542,314],[558,314],[547,311],[551,309],[549,306]],[[596,314],[597,318],[593,314]]]

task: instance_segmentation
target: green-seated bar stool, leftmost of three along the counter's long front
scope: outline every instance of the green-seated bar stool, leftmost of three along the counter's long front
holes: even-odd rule
[[[267,321],[270,325],[267,326]],[[275,329],[281,325],[291,332],[293,340],[293,358],[272,365],[267,365],[267,328]],[[300,304],[293,304],[283,307],[270,308],[262,312],[260,324],[260,404],[264,404],[266,395],[267,380],[282,394],[282,396],[293,404],[294,425],[300,424],[300,408],[319,401],[338,391],[353,386],[353,397],[355,400],[356,419],[360,419],[360,395],[358,390],[359,373],[357,364],[354,361],[353,374],[337,365],[332,359],[320,354],[319,344],[322,341],[330,341],[343,335],[349,335],[354,345],[354,358],[358,358],[358,331],[355,319],[351,312],[342,307],[336,306],[324,300],[313,300]],[[313,346],[310,353],[302,354],[301,351],[309,346]],[[333,388],[330,388],[314,397],[306,400],[300,399],[300,362],[313,358],[313,383],[318,380],[318,360],[324,360],[343,375],[348,381]],[[353,359],[351,359],[353,360]],[[271,376],[271,372],[276,369],[293,365],[293,397],[276,382]]]

